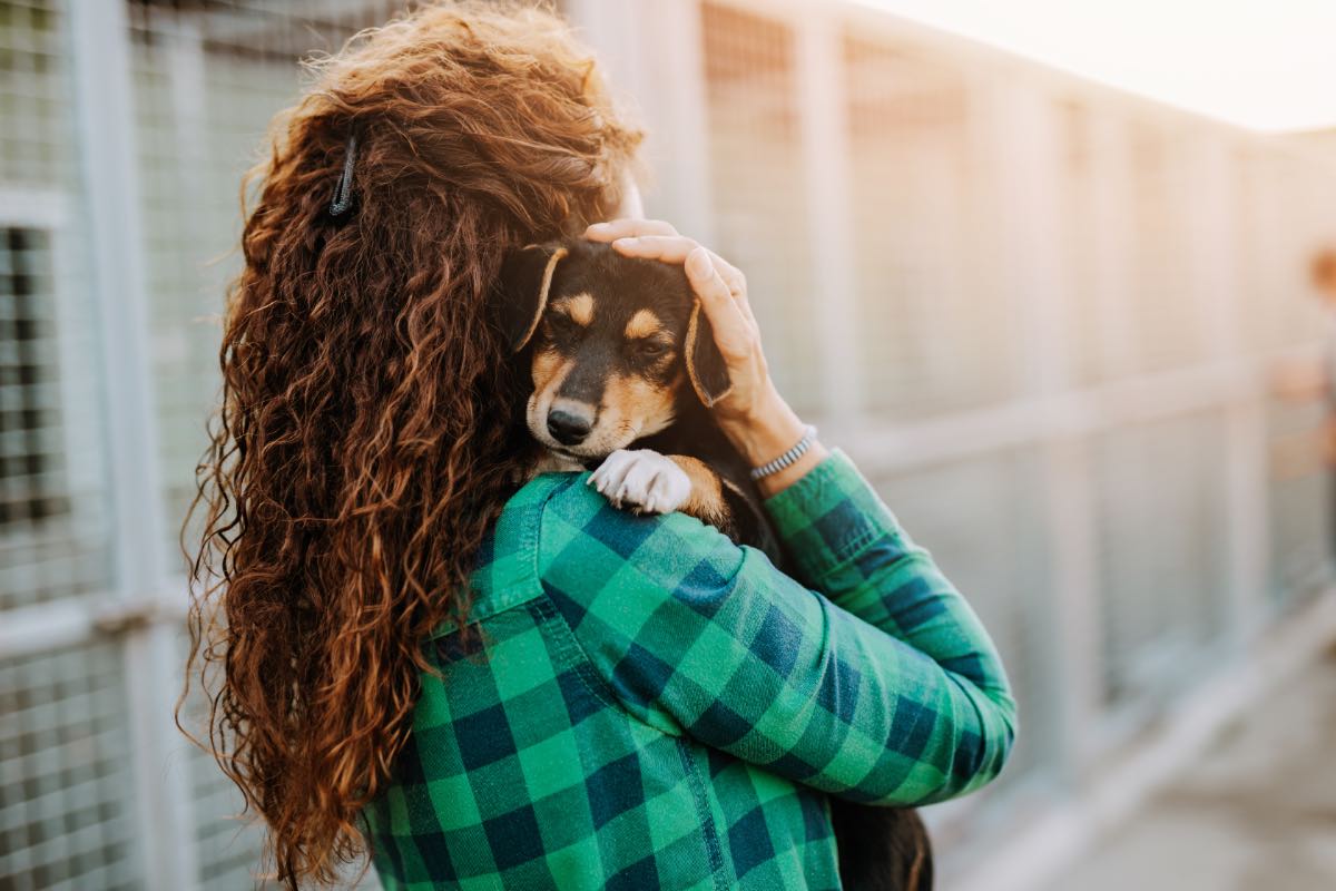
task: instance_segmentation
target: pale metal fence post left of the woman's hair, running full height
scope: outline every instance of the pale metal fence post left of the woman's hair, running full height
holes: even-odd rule
[[[131,47],[119,0],[71,3],[71,71],[79,160],[90,234],[88,266],[102,351],[107,470],[111,482],[114,585],[120,597],[166,596],[166,525],[158,468],[152,341],[143,262],[135,152]],[[174,625],[124,637],[139,838],[146,887],[198,884],[184,760],[179,740]]]

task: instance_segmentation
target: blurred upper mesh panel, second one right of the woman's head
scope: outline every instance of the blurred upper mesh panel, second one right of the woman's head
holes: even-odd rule
[[[1018,333],[969,84],[941,59],[854,36],[843,75],[866,407],[911,418],[999,402]]]

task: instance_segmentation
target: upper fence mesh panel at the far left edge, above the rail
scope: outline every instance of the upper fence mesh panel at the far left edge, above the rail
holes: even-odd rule
[[[107,584],[64,15],[0,4],[0,609]]]

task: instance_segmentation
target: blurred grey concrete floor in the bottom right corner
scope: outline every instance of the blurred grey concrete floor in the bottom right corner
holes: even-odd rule
[[[1336,647],[1047,891],[1336,891]]]

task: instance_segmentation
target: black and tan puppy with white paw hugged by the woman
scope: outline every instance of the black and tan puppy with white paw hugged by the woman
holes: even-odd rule
[[[747,462],[711,417],[731,385],[680,266],[582,238],[529,244],[505,259],[498,307],[528,366],[534,474],[593,470],[591,482],[617,508],[681,510],[788,565]],[[931,844],[914,810],[834,796],[831,810],[844,887],[933,887]]]

